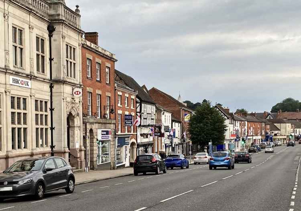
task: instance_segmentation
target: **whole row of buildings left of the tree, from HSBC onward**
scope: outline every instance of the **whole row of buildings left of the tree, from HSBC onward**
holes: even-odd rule
[[[192,110],[115,70],[78,5],[0,0],[0,13],[0,170],[51,154],[116,169],[144,152],[189,153]]]

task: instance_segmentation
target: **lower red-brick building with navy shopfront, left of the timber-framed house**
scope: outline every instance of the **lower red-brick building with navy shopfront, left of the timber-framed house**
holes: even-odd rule
[[[128,167],[137,156],[137,127],[133,125],[136,116],[137,91],[120,80],[115,80],[116,110],[116,166]],[[129,120],[130,117],[132,120]],[[132,124],[132,126],[126,126]]]

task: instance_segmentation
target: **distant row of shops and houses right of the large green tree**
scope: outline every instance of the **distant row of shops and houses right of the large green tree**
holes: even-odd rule
[[[245,150],[262,141],[281,141],[301,138],[301,112],[234,113],[228,107],[215,106],[225,119],[225,149]]]

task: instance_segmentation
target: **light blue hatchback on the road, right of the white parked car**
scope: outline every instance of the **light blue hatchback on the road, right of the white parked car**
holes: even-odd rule
[[[229,170],[234,169],[234,158],[229,151],[214,152],[209,161],[209,169],[217,167],[227,167]]]

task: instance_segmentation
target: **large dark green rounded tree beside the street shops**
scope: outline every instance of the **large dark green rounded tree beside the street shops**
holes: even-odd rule
[[[208,101],[197,107],[191,117],[189,132],[193,144],[206,146],[210,140],[213,145],[222,144],[225,140],[225,119]]]

